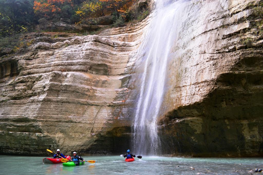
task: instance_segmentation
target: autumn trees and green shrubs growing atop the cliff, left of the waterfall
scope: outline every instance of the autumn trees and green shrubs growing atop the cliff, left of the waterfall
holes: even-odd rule
[[[24,34],[35,31],[52,31],[51,23],[86,24],[94,18],[111,16],[108,28],[134,24],[145,19],[147,9],[133,8],[136,0],[0,0],[0,51],[9,47],[13,51],[26,47]],[[109,18],[108,18],[109,19]],[[93,22],[93,25],[96,22]],[[39,29],[38,26],[43,26]],[[76,32],[76,31],[67,31]],[[88,32],[88,33],[87,33]],[[96,34],[91,30],[84,34]],[[77,34],[76,34],[77,35]]]

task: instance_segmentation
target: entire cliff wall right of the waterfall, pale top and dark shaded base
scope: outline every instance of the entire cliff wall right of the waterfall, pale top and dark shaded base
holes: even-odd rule
[[[207,0],[187,7],[169,64],[168,109],[159,119],[163,153],[263,155],[259,3]]]

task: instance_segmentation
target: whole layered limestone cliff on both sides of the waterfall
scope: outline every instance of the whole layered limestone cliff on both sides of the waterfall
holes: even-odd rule
[[[159,118],[163,153],[262,156],[263,38],[253,14],[259,3],[190,1]],[[0,153],[127,148],[130,77],[150,20],[99,36],[36,36],[26,53],[2,56]]]

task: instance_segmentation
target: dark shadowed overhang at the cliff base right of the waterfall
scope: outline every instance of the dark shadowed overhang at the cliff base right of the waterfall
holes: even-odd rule
[[[259,49],[241,54],[202,102],[178,107],[160,120],[163,154],[263,156],[263,57]]]

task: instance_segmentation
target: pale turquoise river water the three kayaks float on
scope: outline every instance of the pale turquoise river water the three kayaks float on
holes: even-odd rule
[[[125,162],[120,156],[83,156],[83,166],[44,164],[43,157],[0,155],[0,174],[251,174],[263,168],[263,158],[149,157]],[[178,167],[179,166],[179,167]],[[192,168],[195,168],[192,170]],[[253,174],[262,174],[255,173]]]

